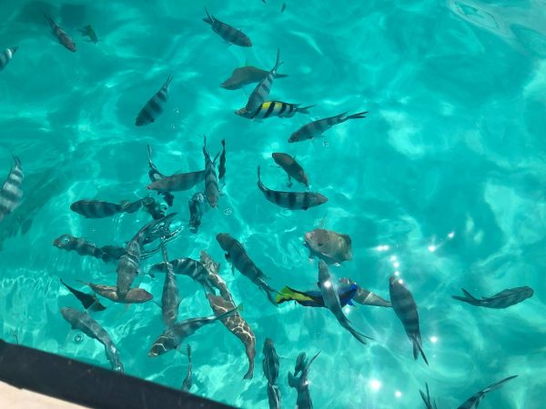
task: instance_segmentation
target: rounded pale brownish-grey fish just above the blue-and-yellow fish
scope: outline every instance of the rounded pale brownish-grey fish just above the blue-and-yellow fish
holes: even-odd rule
[[[315,229],[306,233],[304,240],[304,245],[309,249],[309,258],[316,256],[327,264],[341,264],[352,260],[349,234]]]

